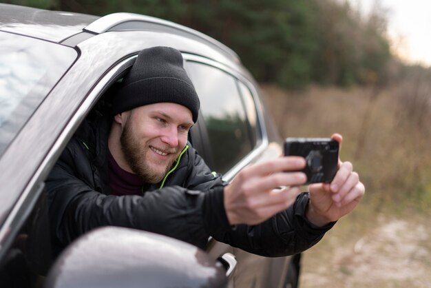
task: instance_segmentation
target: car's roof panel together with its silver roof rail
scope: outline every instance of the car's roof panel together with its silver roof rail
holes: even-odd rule
[[[156,17],[124,12],[98,17],[0,3],[0,31],[45,41],[74,46],[96,34],[131,30],[164,32],[200,41],[224,54],[234,63],[240,63],[238,54],[219,41],[186,26]],[[80,34],[86,35],[79,36]]]

